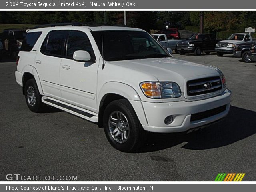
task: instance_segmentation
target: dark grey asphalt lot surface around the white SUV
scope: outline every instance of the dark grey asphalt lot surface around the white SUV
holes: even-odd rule
[[[104,130],[66,112],[36,114],[0,63],[0,180],[6,174],[78,176],[79,181],[213,181],[218,173],[256,180],[256,63],[227,55],[177,58],[217,66],[232,90],[228,117],[192,134],[150,134],[138,153],[115,150]]]

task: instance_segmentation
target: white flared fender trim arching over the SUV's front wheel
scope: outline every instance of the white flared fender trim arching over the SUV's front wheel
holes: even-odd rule
[[[141,98],[134,88],[121,82],[106,82],[99,90],[97,97],[97,111],[100,111],[100,102],[106,94],[118,94],[128,99],[136,112],[141,124],[148,124]]]

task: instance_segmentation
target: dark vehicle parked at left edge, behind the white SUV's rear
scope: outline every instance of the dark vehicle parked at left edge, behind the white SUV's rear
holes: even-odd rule
[[[5,29],[2,33],[4,50],[12,58],[17,57],[22,41],[26,35],[26,31],[22,29]]]

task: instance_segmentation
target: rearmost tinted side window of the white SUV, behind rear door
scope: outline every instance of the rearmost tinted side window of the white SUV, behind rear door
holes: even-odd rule
[[[31,51],[42,32],[27,33],[20,48],[21,51]]]

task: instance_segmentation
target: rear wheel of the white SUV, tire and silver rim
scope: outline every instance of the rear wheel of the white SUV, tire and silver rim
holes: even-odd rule
[[[42,103],[41,98],[36,80],[29,79],[25,84],[25,99],[30,111],[35,113],[44,111],[46,104]]]

